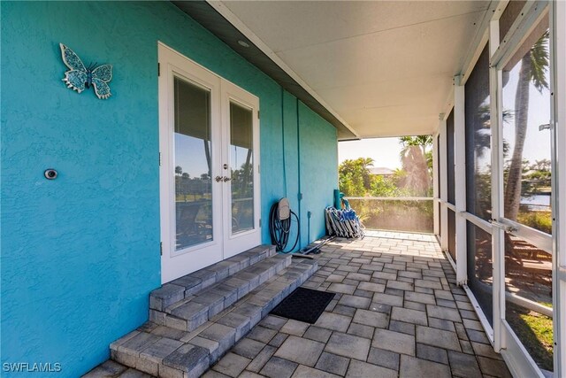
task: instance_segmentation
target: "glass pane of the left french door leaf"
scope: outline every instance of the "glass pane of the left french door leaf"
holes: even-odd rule
[[[174,78],[175,251],[212,240],[210,90]]]

